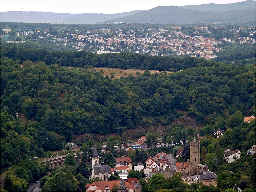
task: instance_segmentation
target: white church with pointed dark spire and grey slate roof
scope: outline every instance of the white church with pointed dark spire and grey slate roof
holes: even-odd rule
[[[99,155],[97,151],[97,145],[96,145],[96,139],[94,140],[94,147],[93,147],[93,155],[92,155],[92,175],[90,176],[90,179],[92,178],[98,178],[102,179],[103,181],[108,180],[108,178],[111,176],[111,167],[108,165],[104,165],[103,159],[102,164],[99,164]]]

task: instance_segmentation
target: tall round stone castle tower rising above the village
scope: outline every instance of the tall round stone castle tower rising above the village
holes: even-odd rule
[[[189,157],[190,159],[187,162],[188,176],[197,175],[196,164],[200,164],[200,142],[195,139],[189,142]]]

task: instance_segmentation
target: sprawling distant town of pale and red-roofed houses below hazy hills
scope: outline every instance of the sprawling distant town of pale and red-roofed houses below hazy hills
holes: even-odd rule
[[[239,42],[240,44],[255,43],[255,29],[250,29],[248,31],[249,37],[241,37],[239,36],[240,31],[247,30],[246,28],[239,28],[239,30],[235,31],[235,29],[225,29],[224,27],[193,27],[191,29],[192,31],[190,30],[190,34],[192,33],[193,36],[182,33],[180,31],[181,28],[182,27],[173,27],[169,30],[163,28],[149,28],[147,30],[130,29],[127,31],[105,28],[87,30],[86,32],[77,29],[75,33],[65,33],[66,36],[62,38],[58,38],[54,36],[54,34],[51,34],[49,29],[34,29],[18,32],[17,36],[1,35],[1,41],[22,43],[27,39],[31,42],[48,42],[58,46],[68,46],[78,51],[91,51],[97,54],[126,51],[149,54],[151,56],[177,55],[200,57],[207,60],[217,57],[215,53],[222,50],[219,45],[223,44],[223,42]],[[211,34],[211,31],[217,29],[232,32],[234,35],[237,35],[237,37],[220,38],[217,40],[204,37],[204,35],[200,36],[201,33]],[[3,29],[5,34],[11,30],[12,29]],[[61,31],[61,29],[58,31]],[[33,39],[32,36],[36,38]],[[8,41],[8,38],[14,40]]]

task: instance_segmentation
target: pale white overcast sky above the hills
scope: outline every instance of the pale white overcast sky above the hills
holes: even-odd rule
[[[208,3],[236,3],[243,0],[137,0],[137,1],[20,1],[12,3],[4,1],[0,6],[0,12],[5,11],[42,11],[54,13],[124,13],[133,10],[149,10],[157,6],[183,6],[200,5]]]

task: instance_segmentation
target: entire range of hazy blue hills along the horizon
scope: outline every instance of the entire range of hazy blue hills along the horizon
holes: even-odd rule
[[[203,4],[190,6],[159,6],[143,11],[117,14],[67,14],[46,12],[1,12],[3,22],[99,24],[112,22],[196,24],[230,23],[255,26],[256,1],[231,4]]]

